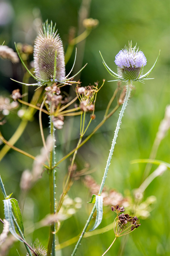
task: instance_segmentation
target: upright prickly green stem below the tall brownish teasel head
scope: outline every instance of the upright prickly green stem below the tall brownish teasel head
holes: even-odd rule
[[[52,122],[52,106],[50,103],[50,135],[52,140],[52,150],[50,152],[49,159],[49,201],[50,201],[50,214],[55,213],[55,136],[54,136],[54,124]],[[55,256],[55,224],[51,224],[49,231],[49,243],[47,255]]]

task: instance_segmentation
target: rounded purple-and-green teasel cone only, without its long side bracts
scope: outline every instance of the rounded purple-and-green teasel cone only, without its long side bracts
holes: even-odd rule
[[[139,48],[136,46],[132,48],[132,41],[129,47],[125,46],[124,49],[116,55],[115,61],[118,66],[118,74],[123,80],[136,80],[141,75],[143,66],[146,65],[146,57]]]

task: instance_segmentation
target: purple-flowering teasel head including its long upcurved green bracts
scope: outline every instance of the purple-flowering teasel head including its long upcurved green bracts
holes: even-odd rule
[[[160,53],[160,52],[159,52]],[[101,55],[102,57],[102,55]],[[159,57],[159,55],[158,55]],[[157,60],[158,60],[157,57]],[[103,59],[103,57],[102,57]],[[132,41],[129,42],[129,46],[125,46],[124,49],[120,50],[120,52],[115,57],[115,63],[117,65],[117,71],[118,73],[114,73],[105,63],[103,59],[103,64],[107,71],[114,77],[116,80],[112,81],[120,81],[123,80],[124,82],[131,82],[132,81],[139,81],[143,82],[145,79],[153,79],[153,78],[146,78],[154,69],[154,66],[157,63],[154,63],[150,71],[145,73],[143,75],[143,67],[146,65],[147,60],[145,55],[141,50],[139,50],[139,47],[136,48],[136,46],[132,47]],[[108,82],[112,82],[108,81]]]

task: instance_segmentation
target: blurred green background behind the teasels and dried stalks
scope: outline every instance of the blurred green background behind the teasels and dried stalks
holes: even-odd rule
[[[107,82],[112,77],[107,73],[102,64],[99,50],[105,62],[114,71],[115,55],[132,40],[134,44],[143,51],[147,58],[147,72],[154,64],[159,49],[160,57],[157,65],[150,75],[154,80],[145,80],[145,84],[135,82],[136,92],[130,99],[125,115],[123,117],[121,130],[115,146],[114,155],[108,172],[105,185],[110,189],[116,189],[125,197],[141,184],[141,178],[145,164],[130,165],[130,161],[138,158],[149,158],[152,144],[156,136],[160,121],[164,117],[166,106],[169,104],[169,1],[159,0],[0,0],[0,44],[5,40],[5,45],[14,49],[14,41],[33,45],[41,22],[48,19],[56,23],[58,32],[65,51],[67,50],[69,31],[74,27],[75,36],[78,32],[85,30],[82,26],[82,18],[98,19],[99,25],[85,41],[77,45],[77,62],[75,72],[85,63],[88,65],[81,73],[83,86],[94,84],[97,80],[101,82],[106,79],[105,85],[99,91],[96,102],[96,119],[89,128],[92,129],[103,119],[104,110],[107,107],[114,90],[116,82]],[[72,67],[74,53],[66,66],[66,71]],[[30,61],[33,57],[30,57]],[[66,73],[67,73],[66,72]],[[23,70],[21,64],[11,64],[7,60],[0,59],[0,94],[9,96],[14,89],[20,88],[14,78],[22,81]],[[29,89],[29,98],[34,90]],[[69,92],[69,88],[67,88]],[[73,94],[73,91],[70,91]],[[113,108],[116,102],[112,104]],[[97,183],[101,183],[114,129],[118,119],[119,110],[112,116],[98,133],[96,133],[87,144],[79,151],[76,157],[78,170],[84,168],[88,163],[90,169],[96,168],[92,174]],[[42,116],[43,117],[43,116]],[[0,126],[5,139],[9,139],[20,123],[20,118],[15,113],[7,116],[7,123]],[[72,150],[79,136],[80,117],[66,118],[63,130],[56,131],[56,160]],[[48,119],[43,117],[45,135],[48,135]],[[169,134],[162,140],[156,159],[169,162]],[[0,147],[2,148],[3,145]],[[38,113],[34,120],[29,122],[23,135],[16,146],[33,155],[38,155],[42,147],[40,137]],[[57,169],[56,198],[62,192],[63,178],[67,172],[69,159]],[[22,171],[32,168],[32,160],[12,150],[0,162],[0,174],[7,190],[7,194],[13,192],[13,197],[20,198],[20,177]],[[153,165],[152,170],[157,166]],[[123,252],[120,246],[123,238],[116,240],[113,247],[108,251],[109,256],[155,256],[169,255],[169,170],[162,176],[157,177],[146,189],[144,199],[154,195],[157,201],[152,207],[150,217],[141,220],[141,226],[132,232],[128,238]],[[78,235],[86,223],[91,205],[88,189],[83,185],[83,178],[75,181],[69,197],[81,197],[83,205],[71,218],[62,222],[57,236],[57,243],[62,243]],[[3,199],[0,193],[0,199]],[[113,222],[115,216],[108,214],[110,208],[104,210],[103,221],[99,228]],[[27,195],[23,219],[25,226],[40,221],[49,213],[49,184],[48,175],[45,172],[42,179],[36,183]],[[3,219],[3,202],[0,203],[0,217]],[[94,224],[94,220],[92,221]],[[91,224],[91,225],[92,225]],[[2,225],[0,226],[2,230]],[[39,238],[47,247],[49,227],[41,228],[27,235],[27,242],[31,244]],[[76,253],[77,256],[100,256],[114,240],[114,231],[84,238]],[[25,255],[25,247],[17,242],[9,250],[7,255]],[[74,244],[56,251],[56,256],[68,256],[72,254]]]

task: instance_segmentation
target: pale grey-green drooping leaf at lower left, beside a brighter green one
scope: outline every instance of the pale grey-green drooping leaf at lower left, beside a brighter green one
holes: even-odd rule
[[[23,242],[20,239],[19,235],[16,233],[15,225],[13,223],[11,201],[10,201],[10,199],[5,199],[3,201],[4,201],[4,215],[5,215],[5,219],[9,222],[9,231],[11,232],[11,234],[13,236],[15,236],[15,238],[17,238],[18,240]]]

